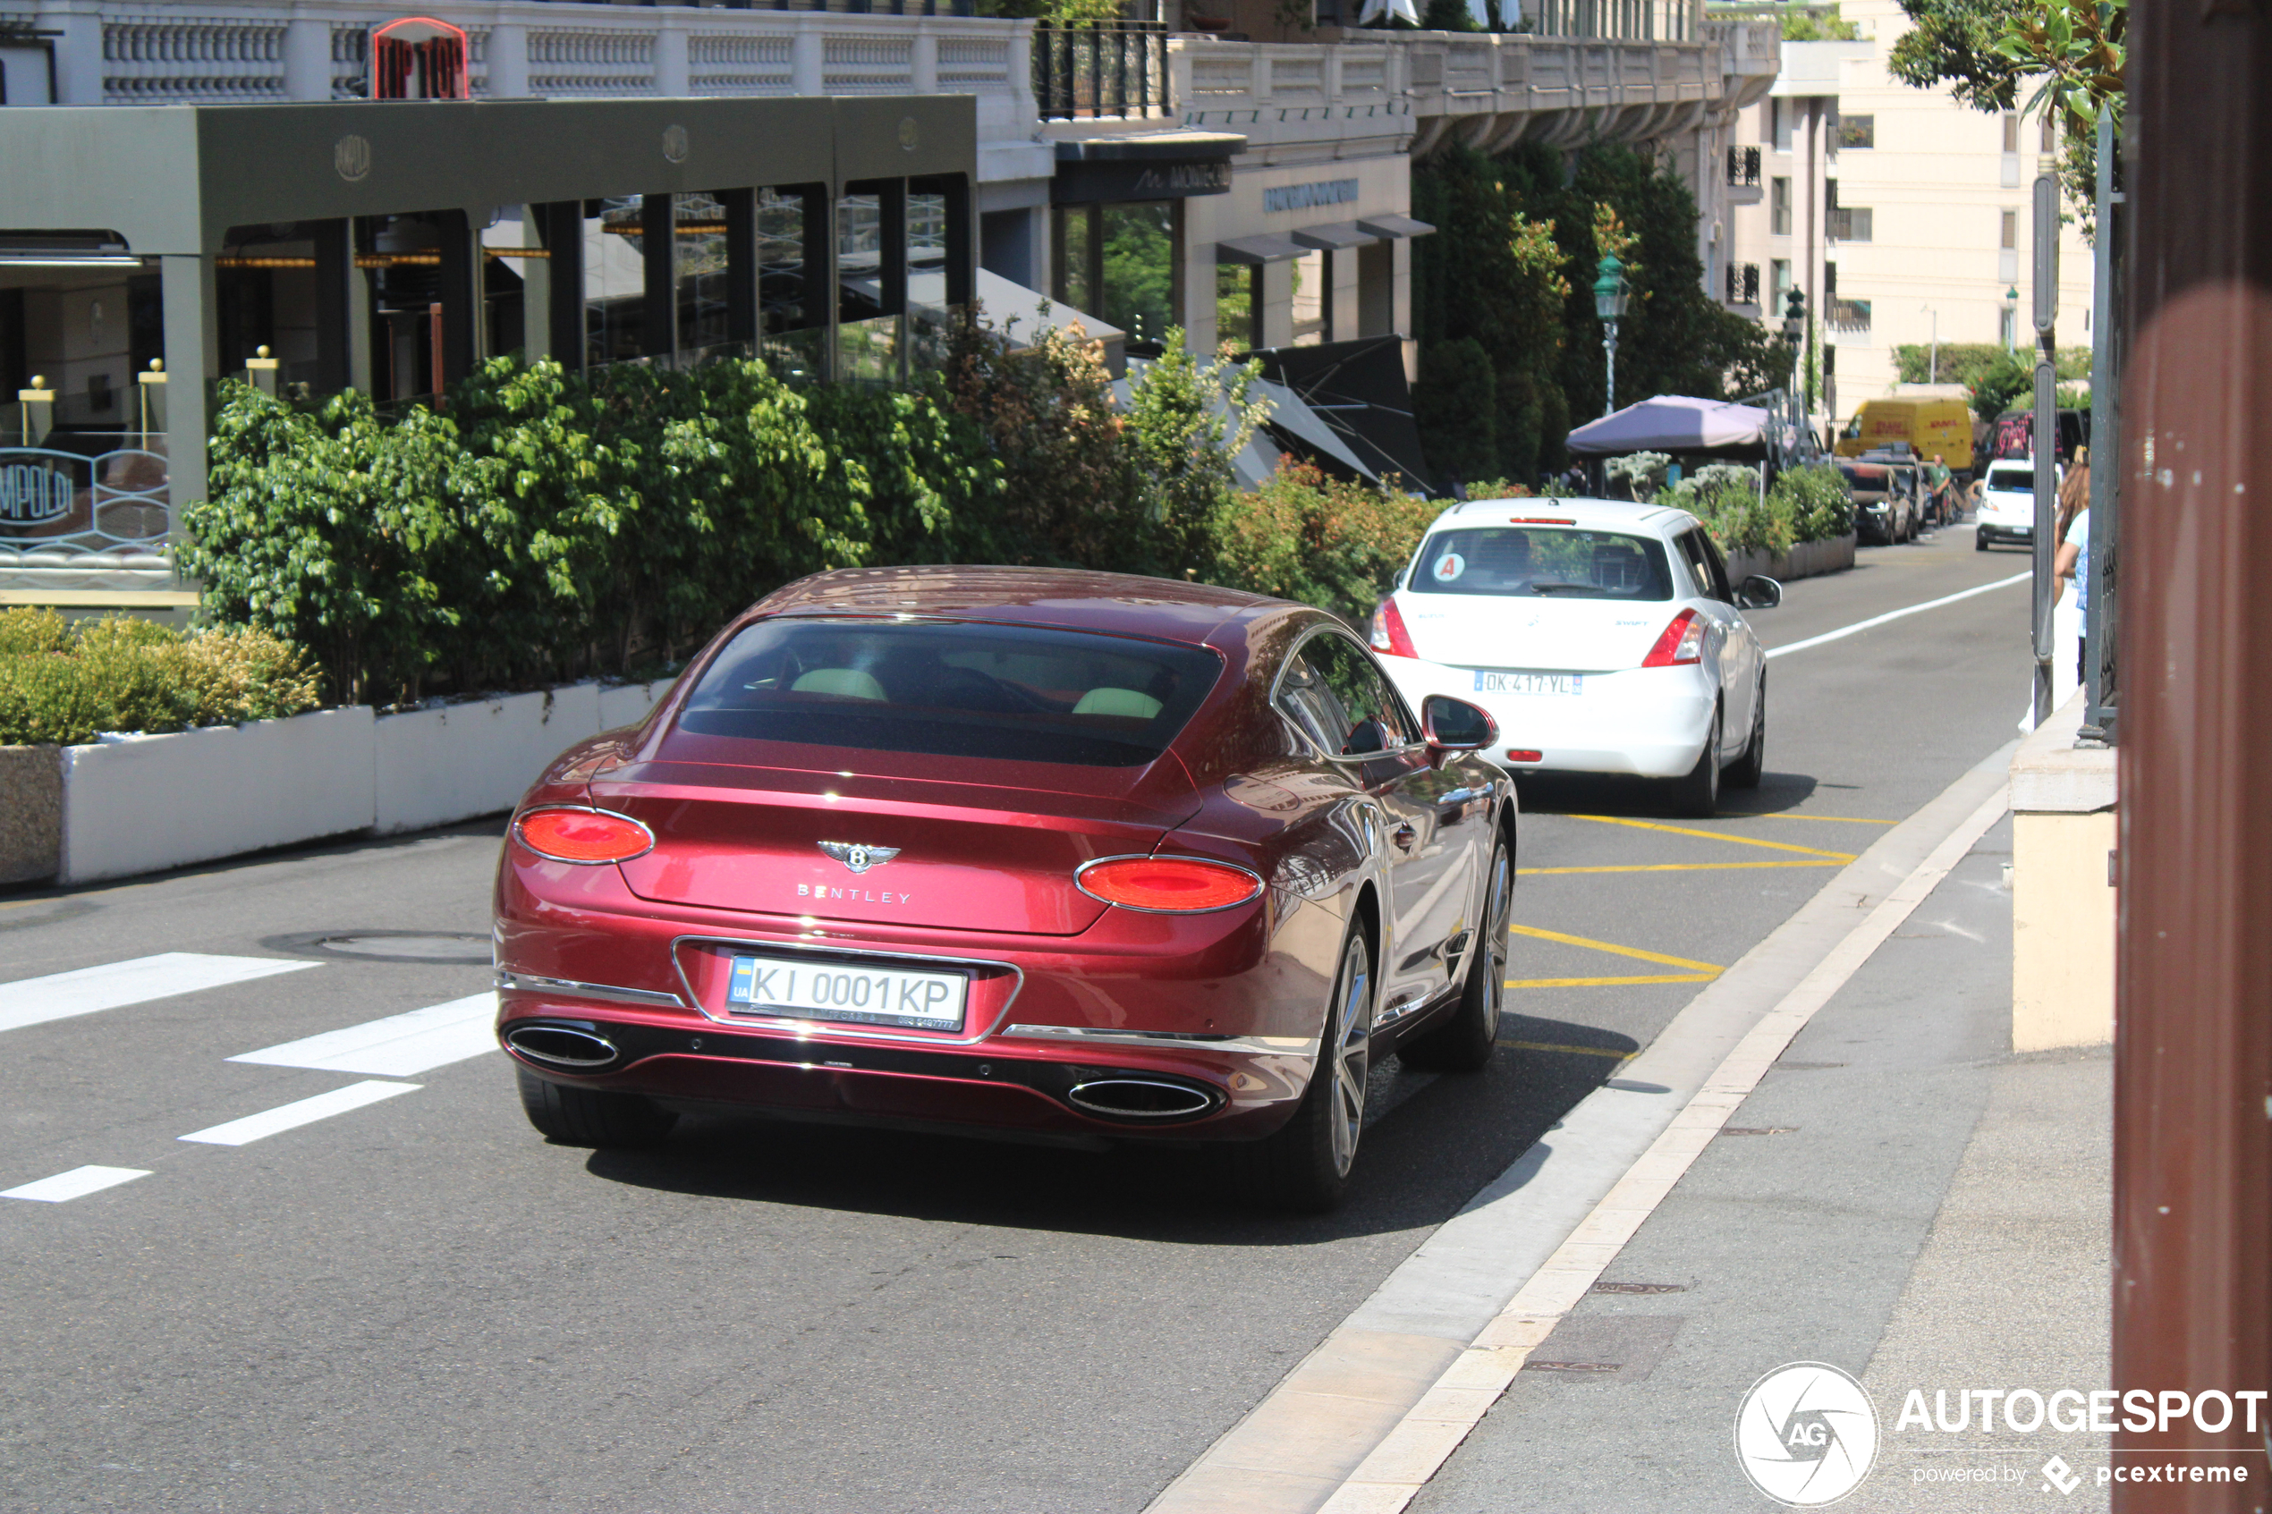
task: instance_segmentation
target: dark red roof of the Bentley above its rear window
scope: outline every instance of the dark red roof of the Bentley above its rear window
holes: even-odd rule
[[[1213,583],[1177,583],[1072,567],[838,567],[786,583],[759,615],[952,615],[1206,642],[1234,620],[1270,620],[1300,606]]]

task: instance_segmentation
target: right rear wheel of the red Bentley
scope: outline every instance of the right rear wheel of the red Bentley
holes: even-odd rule
[[[1365,1078],[1372,1074],[1372,947],[1363,924],[1340,944],[1334,996],[1325,1006],[1318,1067],[1300,1108],[1272,1135],[1234,1146],[1238,1185],[1272,1210],[1325,1214],[1340,1203],[1365,1133]]]

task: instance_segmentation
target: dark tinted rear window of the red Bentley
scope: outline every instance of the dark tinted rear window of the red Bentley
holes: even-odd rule
[[[1134,767],[1222,661],[1202,647],[936,620],[779,617],[709,665],[679,729],[854,751]]]

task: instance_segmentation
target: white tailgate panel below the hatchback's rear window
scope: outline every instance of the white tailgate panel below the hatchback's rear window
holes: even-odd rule
[[[1640,667],[1679,599],[1397,592],[1413,651],[1450,667],[1615,672]]]

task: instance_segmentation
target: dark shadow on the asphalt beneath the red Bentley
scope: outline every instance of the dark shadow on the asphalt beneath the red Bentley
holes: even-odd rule
[[[1611,1078],[1618,1055],[1529,1051],[1638,1046],[1595,1026],[1509,1015],[1490,1069],[1438,1076],[1368,1126],[1350,1196],[1334,1214],[1245,1201],[1216,1149],[1106,1153],[954,1135],[693,1115],[661,1146],[595,1151],[609,1183],[750,1203],[1068,1230],[1206,1246],[1315,1246],[1443,1223]]]

